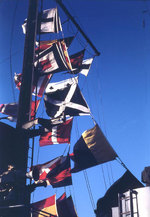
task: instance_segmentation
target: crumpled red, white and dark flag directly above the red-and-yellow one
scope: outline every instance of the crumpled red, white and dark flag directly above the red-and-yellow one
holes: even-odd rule
[[[69,156],[57,157],[45,164],[39,164],[31,168],[39,170],[39,180],[47,180],[54,188],[72,184]]]

